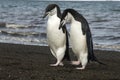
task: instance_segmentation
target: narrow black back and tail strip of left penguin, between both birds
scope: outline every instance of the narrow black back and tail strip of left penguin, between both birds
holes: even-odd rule
[[[65,50],[65,56],[64,56],[63,60],[66,59],[67,61],[71,61],[70,54],[69,54],[69,33],[65,26],[63,28],[64,28],[65,34],[66,34],[66,50]]]

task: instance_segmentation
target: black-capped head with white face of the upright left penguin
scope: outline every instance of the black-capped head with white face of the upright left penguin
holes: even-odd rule
[[[54,14],[57,14],[57,16],[60,17],[60,8],[57,4],[49,4],[45,9],[43,18],[45,18],[46,16],[52,16]]]

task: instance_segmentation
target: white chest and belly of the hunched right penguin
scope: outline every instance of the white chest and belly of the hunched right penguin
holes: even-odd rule
[[[70,28],[70,40],[74,53],[85,52],[86,47],[86,35],[83,35],[80,22],[71,23]]]

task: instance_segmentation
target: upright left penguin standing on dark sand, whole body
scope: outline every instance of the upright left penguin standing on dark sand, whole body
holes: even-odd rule
[[[57,62],[55,64],[51,64],[51,66],[58,65],[63,66],[62,60],[64,58],[70,60],[69,42],[66,27],[63,26],[63,28],[59,30],[61,20],[61,12],[59,6],[56,4],[48,5],[45,10],[43,18],[45,18],[46,16],[48,16],[47,22],[48,45],[50,47],[52,55],[57,59]]]

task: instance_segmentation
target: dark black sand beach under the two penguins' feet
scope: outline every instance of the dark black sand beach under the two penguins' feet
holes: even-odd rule
[[[120,80],[120,52],[95,50],[95,55],[107,66],[88,63],[76,70],[64,61],[64,67],[50,67],[55,58],[48,47],[0,43],[0,80]]]

